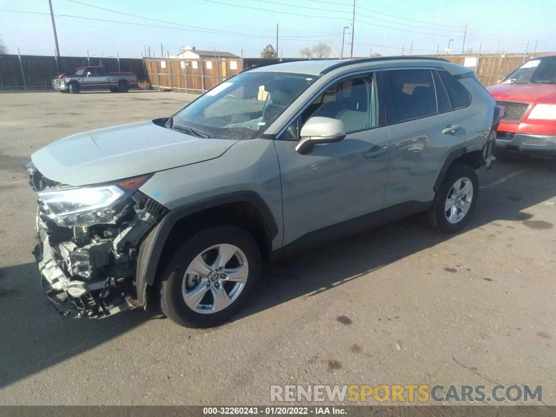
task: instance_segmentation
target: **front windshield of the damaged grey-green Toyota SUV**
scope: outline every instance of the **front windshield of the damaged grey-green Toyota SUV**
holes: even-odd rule
[[[317,78],[282,72],[241,73],[176,113],[171,127],[202,137],[255,138]]]

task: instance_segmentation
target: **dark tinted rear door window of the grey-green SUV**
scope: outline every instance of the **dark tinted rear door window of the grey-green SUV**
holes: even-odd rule
[[[430,69],[384,71],[389,100],[386,123],[394,125],[438,112],[433,74]]]

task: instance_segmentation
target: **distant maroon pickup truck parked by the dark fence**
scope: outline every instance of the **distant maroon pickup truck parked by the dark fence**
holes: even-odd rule
[[[113,93],[127,93],[137,87],[137,76],[133,72],[110,72],[104,67],[79,67],[75,74],[60,74],[52,80],[54,90],[77,94],[81,90],[110,88]]]

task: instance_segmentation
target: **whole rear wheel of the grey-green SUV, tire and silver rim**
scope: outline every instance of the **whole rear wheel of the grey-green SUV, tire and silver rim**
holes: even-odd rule
[[[456,165],[441,183],[433,207],[426,213],[430,227],[441,233],[459,232],[473,215],[479,197],[479,178],[469,165]]]

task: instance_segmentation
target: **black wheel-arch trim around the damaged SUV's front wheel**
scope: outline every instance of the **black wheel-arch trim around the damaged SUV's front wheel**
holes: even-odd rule
[[[276,237],[278,234],[276,219],[266,202],[254,191],[230,192],[177,207],[163,217],[160,223],[143,239],[140,246],[135,275],[139,305],[146,307],[145,291],[147,285],[152,285],[155,282],[158,260],[160,260],[168,235],[170,235],[176,223],[184,217],[202,210],[237,202],[246,202],[254,206],[264,220],[264,227],[270,241]]]

